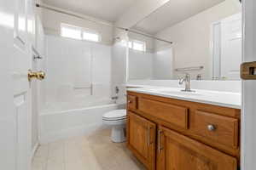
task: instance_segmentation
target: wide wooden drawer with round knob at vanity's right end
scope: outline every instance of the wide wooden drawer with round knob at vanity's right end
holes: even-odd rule
[[[191,120],[191,127],[198,135],[233,148],[238,146],[238,120],[236,118],[195,111],[194,119],[194,121]]]

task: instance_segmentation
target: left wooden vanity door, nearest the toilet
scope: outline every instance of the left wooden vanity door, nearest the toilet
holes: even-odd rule
[[[128,112],[127,144],[148,170],[155,169],[156,125],[141,116]]]

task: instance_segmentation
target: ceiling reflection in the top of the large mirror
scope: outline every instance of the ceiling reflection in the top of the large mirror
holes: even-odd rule
[[[222,2],[224,0],[170,0],[134,26],[134,29],[154,35]]]

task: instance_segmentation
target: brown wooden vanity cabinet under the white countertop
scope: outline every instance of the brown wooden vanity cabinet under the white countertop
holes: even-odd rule
[[[148,169],[238,169],[240,110],[127,94],[127,146]]]

